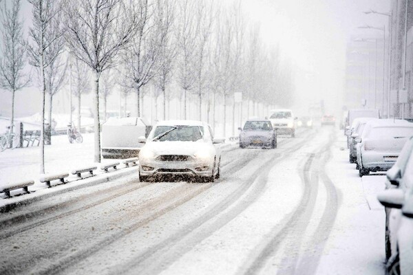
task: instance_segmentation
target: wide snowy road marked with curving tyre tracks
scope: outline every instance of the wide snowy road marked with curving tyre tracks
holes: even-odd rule
[[[213,184],[134,175],[1,214],[0,274],[383,274],[363,185],[383,176],[357,177],[340,134],[226,147]]]

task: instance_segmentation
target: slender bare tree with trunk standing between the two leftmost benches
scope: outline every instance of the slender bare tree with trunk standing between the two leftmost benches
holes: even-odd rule
[[[61,6],[53,0],[28,0],[33,5],[32,43],[28,47],[30,63],[39,67],[43,100],[41,103],[40,171],[45,173],[45,68],[63,52]]]

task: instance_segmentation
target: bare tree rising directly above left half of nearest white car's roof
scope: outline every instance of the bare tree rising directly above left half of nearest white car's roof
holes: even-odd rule
[[[163,96],[163,119],[166,119],[167,113],[167,85],[171,82],[173,62],[176,58],[177,47],[176,41],[173,40],[173,23],[175,15],[175,1],[158,0],[158,9],[156,12],[156,24],[164,31],[164,37],[161,40],[158,74],[154,78],[155,86],[161,91]]]

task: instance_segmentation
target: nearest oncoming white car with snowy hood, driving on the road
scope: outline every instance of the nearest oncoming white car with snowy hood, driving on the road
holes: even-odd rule
[[[157,175],[189,175],[214,181],[220,177],[223,139],[214,139],[211,127],[200,121],[158,122],[139,152],[139,178]]]

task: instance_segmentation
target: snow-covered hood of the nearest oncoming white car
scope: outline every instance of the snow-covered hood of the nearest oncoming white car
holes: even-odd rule
[[[200,150],[210,150],[211,144],[198,142],[147,142],[142,150],[152,151],[155,155],[194,155]]]

